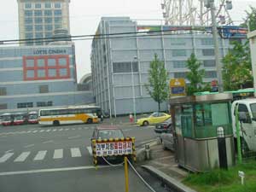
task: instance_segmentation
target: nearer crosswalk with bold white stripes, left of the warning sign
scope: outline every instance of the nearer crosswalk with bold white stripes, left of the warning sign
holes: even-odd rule
[[[84,149],[85,149],[85,153],[88,153],[91,156],[90,146],[85,147]],[[0,166],[4,163],[9,163],[9,162],[18,163],[18,162],[26,162],[31,160],[34,162],[40,162],[46,159],[63,160],[65,158],[79,158],[79,157],[83,157],[83,155],[84,154],[82,154],[81,148],[79,147],[67,148],[65,150],[63,148],[56,148],[53,150],[24,151],[24,152],[17,152],[17,153],[8,152],[0,156]]]

